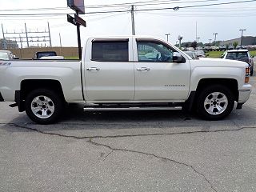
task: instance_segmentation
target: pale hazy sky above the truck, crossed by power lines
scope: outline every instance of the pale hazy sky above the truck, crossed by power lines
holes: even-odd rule
[[[202,6],[229,2],[242,3]],[[241,29],[246,30],[243,32],[244,36],[256,36],[256,0],[85,0],[84,3],[86,13],[90,14],[80,15],[87,24],[86,27],[81,26],[82,43],[91,36],[131,35],[131,4],[134,4],[135,9],[136,35],[166,39],[165,34],[170,34],[169,42],[173,44],[178,41],[178,35],[182,35],[182,42],[192,42],[196,37],[199,42],[210,42],[209,39],[213,42],[214,33],[218,33],[217,41],[239,38]],[[198,7],[200,5],[202,7]],[[178,10],[150,10],[177,6],[180,7]],[[111,12],[119,10],[126,12]],[[102,11],[110,13],[95,13]],[[47,30],[49,22],[52,46],[60,46],[60,37],[62,46],[78,45],[76,27],[66,21],[66,14],[74,16],[74,10],[67,7],[66,0],[0,0],[0,23],[5,33],[25,31],[25,22],[29,31]],[[18,34],[6,34],[7,37],[15,35]],[[1,30],[0,38],[2,37]],[[36,46],[37,42],[30,42],[30,45]],[[26,44],[23,43],[22,46],[25,47]]]

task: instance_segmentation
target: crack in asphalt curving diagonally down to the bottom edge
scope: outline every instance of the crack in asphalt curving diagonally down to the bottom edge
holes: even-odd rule
[[[108,146],[106,144],[102,144],[102,143],[98,143],[98,142],[93,142],[92,139],[90,139],[89,141],[90,144],[94,145],[94,146],[104,146],[110,150],[112,150],[110,152],[110,154],[113,152],[113,151],[122,151],[122,152],[130,152],[130,153],[136,153],[136,154],[143,154],[143,155],[147,155],[147,156],[151,156],[151,157],[154,157],[154,158],[158,158],[158,159],[162,159],[162,160],[166,160],[166,161],[169,161],[169,162],[174,162],[180,166],[187,166],[189,167],[190,169],[192,169],[196,174],[198,175],[201,175],[202,178],[204,178],[204,180],[210,185],[210,188],[212,190],[214,190],[215,192],[217,192],[217,190],[214,188],[213,184],[209,181],[209,179],[206,178],[206,176],[204,174],[202,174],[201,172],[199,172],[198,170],[196,170],[194,168],[194,166],[191,166],[189,164],[186,164],[185,162],[178,162],[174,159],[171,159],[171,158],[164,158],[164,157],[161,157],[161,156],[158,156],[156,154],[149,154],[149,153],[146,153],[146,152],[142,152],[142,151],[138,151],[138,150],[126,150],[126,149],[121,149],[121,148],[114,148],[112,146]],[[108,155],[107,155],[108,156]]]

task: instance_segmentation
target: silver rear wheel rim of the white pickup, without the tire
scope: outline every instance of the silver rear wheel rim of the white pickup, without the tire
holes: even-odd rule
[[[31,102],[31,110],[38,118],[50,118],[54,109],[54,102],[44,95],[37,96]]]

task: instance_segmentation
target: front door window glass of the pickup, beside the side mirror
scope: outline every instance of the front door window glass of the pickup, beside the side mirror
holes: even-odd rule
[[[162,42],[137,41],[138,62],[173,62],[174,50]]]

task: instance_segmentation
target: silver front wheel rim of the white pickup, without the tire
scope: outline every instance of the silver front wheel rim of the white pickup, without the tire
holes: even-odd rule
[[[206,97],[204,107],[208,114],[218,115],[226,110],[228,103],[225,94],[213,92]]]

